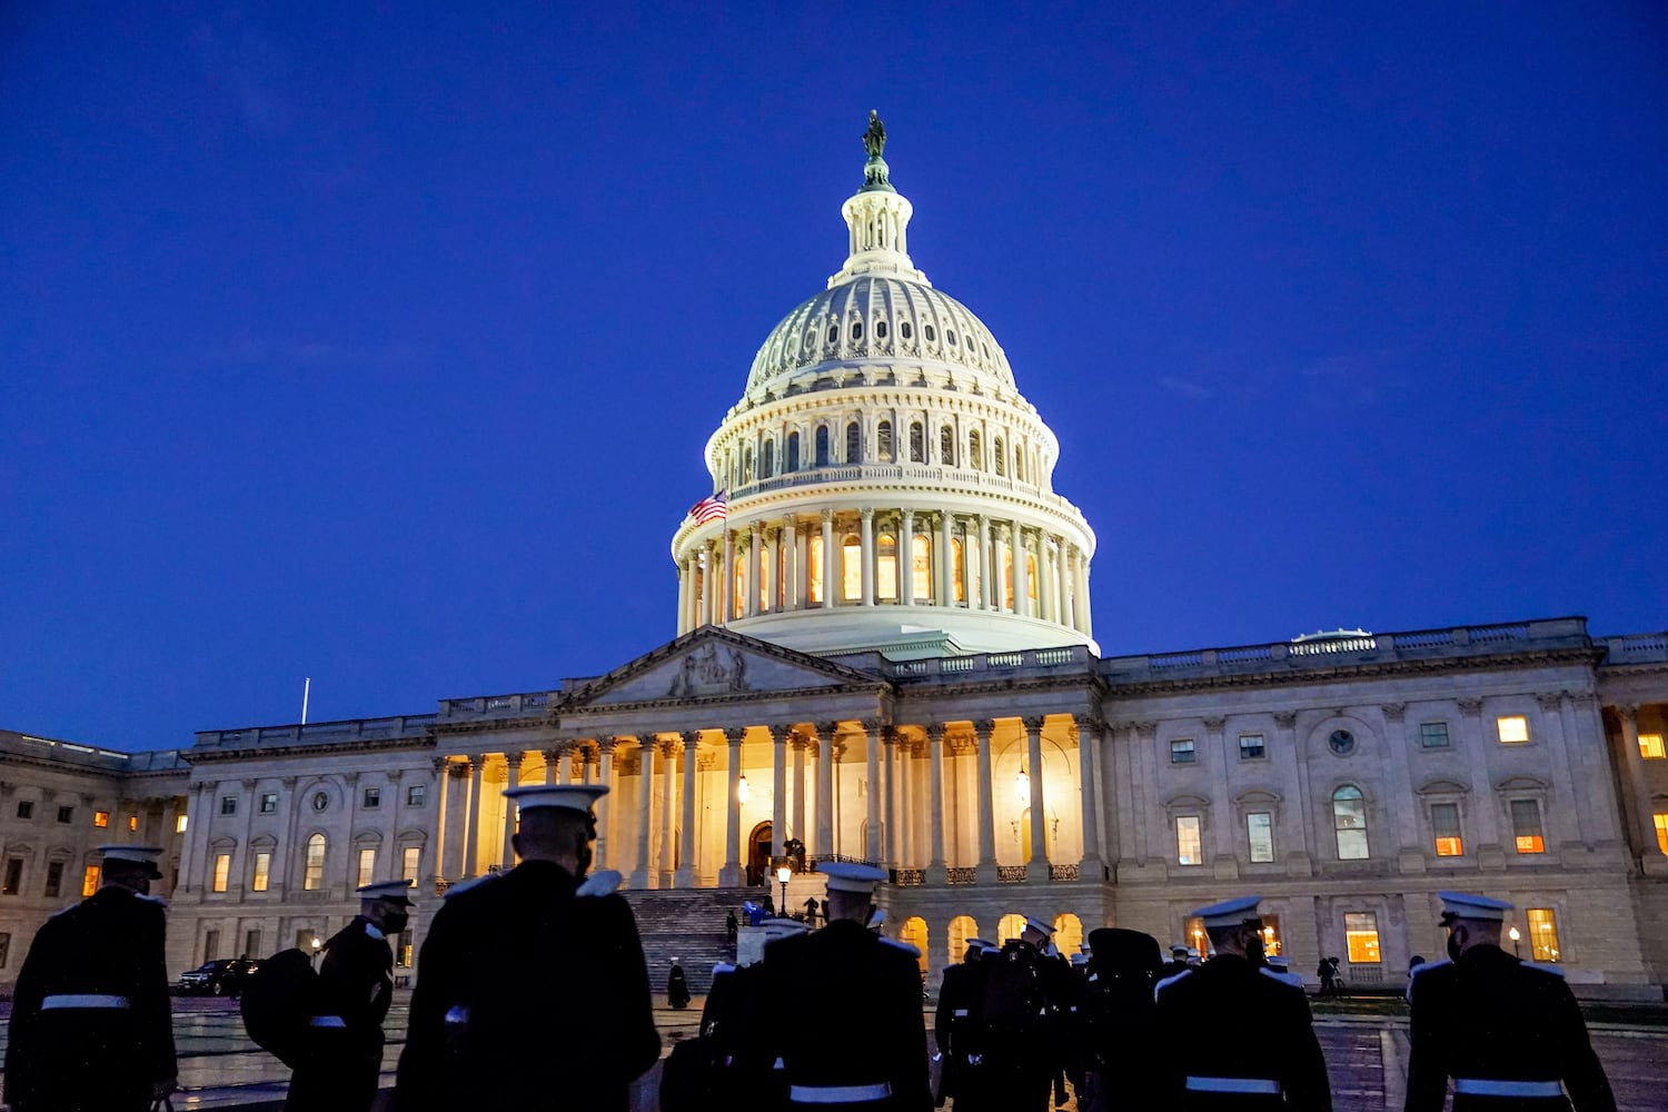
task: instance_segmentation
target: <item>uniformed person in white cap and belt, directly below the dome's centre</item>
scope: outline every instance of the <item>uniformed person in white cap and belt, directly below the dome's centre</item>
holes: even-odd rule
[[[759,1062],[781,1059],[787,1109],[926,1112],[919,954],[864,929],[886,874],[854,862],[819,870],[827,925],[771,944],[759,965],[759,1014],[794,1022],[757,1027],[749,1050]]]

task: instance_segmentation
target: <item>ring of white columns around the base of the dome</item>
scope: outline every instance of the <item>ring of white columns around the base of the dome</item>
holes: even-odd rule
[[[856,532],[861,547],[857,599],[844,599],[844,545],[837,543],[851,532],[849,518],[841,520],[836,530],[834,510],[822,512],[822,559],[816,575],[811,565],[817,522],[804,522],[794,515],[781,522],[756,520],[726,527],[722,535],[709,538],[697,552],[679,560],[677,632],[686,634],[701,625],[724,625],[736,619],[782,610],[892,604],[894,599],[877,595],[881,553],[876,543],[876,510],[862,508],[857,517]],[[1089,615],[1089,557],[1064,537],[1017,520],[992,520],[982,513],[969,517],[921,513],[919,533],[912,508],[881,517],[882,532],[894,537],[896,604],[1002,610],[1066,625],[1084,637],[1094,635]],[[916,594],[917,535],[927,542],[931,553],[931,582],[926,594]],[[962,550],[959,582],[952,557],[956,542],[961,542]],[[1007,555],[1012,555],[1012,560],[1001,570]],[[1027,555],[1036,560],[1034,592]],[[957,590],[961,600],[956,600]]]

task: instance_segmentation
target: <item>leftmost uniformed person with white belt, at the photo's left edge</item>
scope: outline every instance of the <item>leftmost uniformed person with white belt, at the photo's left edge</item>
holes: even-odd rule
[[[158,845],[100,845],[102,887],[35,934],[12,994],[13,1112],[142,1112],[178,1085]]]

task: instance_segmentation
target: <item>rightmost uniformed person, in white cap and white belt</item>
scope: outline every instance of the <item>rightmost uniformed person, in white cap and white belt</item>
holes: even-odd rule
[[[1556,965],[1500,949],[1511,904],[1438,892],[1448,960],[1418,965],[1408,985],[1406,1112],[1615,1112],[1575,994]]]

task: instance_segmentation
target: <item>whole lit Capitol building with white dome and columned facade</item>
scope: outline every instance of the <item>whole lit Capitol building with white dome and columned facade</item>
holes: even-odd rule
[[[707,442],[674,640],[549,690],[178,752],[0,732],[0,980],[97,884],[100,842],[168,845],[177,972],[329,937],[370,880],[432,907],[514,864],[504,787],[589,780],[612,789],[597,865],[632,892],[739,904],[786,859],[797,905],[817,859],[877,862],[926,970],[1026,914],[1063,949],[1103,924],[1193,945],[1188,909],[1261,892],[1296,969],[1393,985],[1443,950],[1434,892],[1468,889],[1516,904],[1523,957],[1578,992],[1660,999],[1668,635],[1565,617],[1101,657],[1061,445],[916,268],[882,142],[844,265]]]

